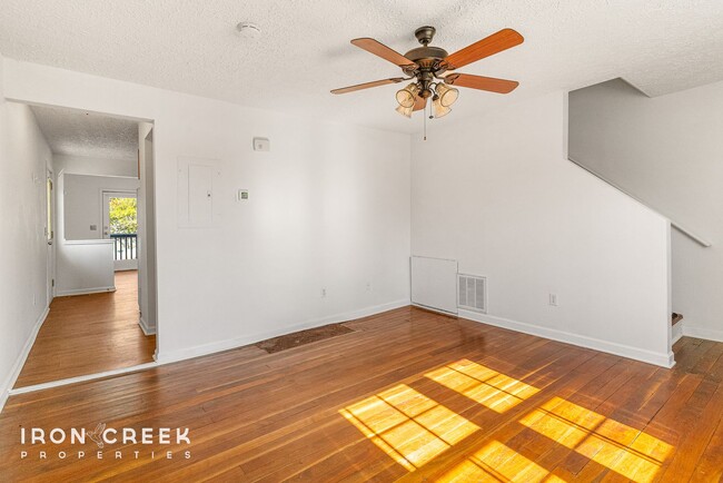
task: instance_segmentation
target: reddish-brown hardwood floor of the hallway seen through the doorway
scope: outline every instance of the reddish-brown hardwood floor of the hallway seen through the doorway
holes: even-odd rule
[[[152,362],[138,316],[136,270],[116,273],[115,293],[57,297],[14,387]]]

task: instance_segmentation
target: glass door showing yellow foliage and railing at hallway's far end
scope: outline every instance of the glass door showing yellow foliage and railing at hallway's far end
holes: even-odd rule
[[[102,236],[106,239],[113,240],[113,266],[116,272],[138,269],[137,193],[103,191],[102,203]]]

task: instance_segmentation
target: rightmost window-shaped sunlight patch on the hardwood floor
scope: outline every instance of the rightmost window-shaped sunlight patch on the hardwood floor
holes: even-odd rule
[[[672,450],[640,430],[559,397],[519,422],[635,482],[653,481]]]

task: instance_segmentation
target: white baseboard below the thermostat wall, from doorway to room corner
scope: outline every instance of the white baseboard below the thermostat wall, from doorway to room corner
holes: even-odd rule
[[[370,315],[380,314],[383,312],[393,310],[399,307],[406,307],[408,305],[410,305],[409,299],[395,300],[387,304],[365,307],[358,310],[350,310],[337,315],[331,315],[328,317],[315,318],[315,319],[303,322],[300,324],[279,327],[273,331],[259,332],[239,338],[197,345],[195,347],[188,347],[188,348],[174,351],[169,353],[164,353],[162,351],[159,351],[156,361],[158,361],[159,364],[169,364],[178,361],[186,361],[189,358],[200,357],[209,354],[215,354],[218,352],[242,347],[245,345],[255,344],[259,341],[265,341],[267,338],[277,337],[284,334],[290,334],[297,331],[320,327],[327,324],[338,324],[341,322],[354,321],[356,318],[368,317]]]

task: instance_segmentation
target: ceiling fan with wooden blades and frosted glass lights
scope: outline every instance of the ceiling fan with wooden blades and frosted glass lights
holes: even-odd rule
[[[459,91],[452,86],[508,93],[519,85],[515,80],[455,72],[456,69],[468,63],[521,45],[524,39],[515,30],[503,29],[452,55],[447,53],[445,49],[429,46],[435,33],[436,29],[434,27],[419,27],[414,34],[422,43],[422,47],[412,49],[404,56],[368,37],[351,40],[351,43],[358,48],[400,67],[402,71],[408,77],[394,77],[358,83],[334,89],[331,93],[347,93],[370,87],[413,80],[407,87],[397,91],[396,97],[399,103],[396,109],[397,112],[409,118],[413,111],[425,109],[427,99],[432,98],[434,117],[443,117],[452,111],[450,106],[459,96]],[[446,76],[443,76],[445,73]]]

